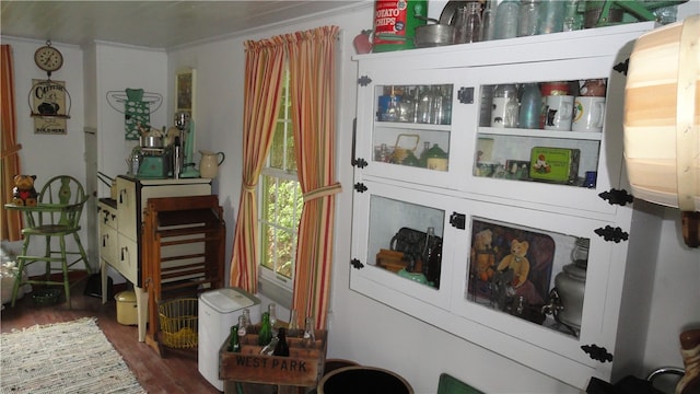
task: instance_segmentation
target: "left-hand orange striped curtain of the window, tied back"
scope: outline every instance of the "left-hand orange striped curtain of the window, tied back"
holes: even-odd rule
[[[273,37],[245,43],[243,113],[243,184],[231,258],[231,286],[256,293],[258,287],[258,223],[256,186],[280,108],[284,45]]]

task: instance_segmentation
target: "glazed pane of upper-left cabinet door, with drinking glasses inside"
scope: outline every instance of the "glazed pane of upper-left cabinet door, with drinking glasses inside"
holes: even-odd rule
[[[452,84],[376,88],[375,162],[447,171]]]

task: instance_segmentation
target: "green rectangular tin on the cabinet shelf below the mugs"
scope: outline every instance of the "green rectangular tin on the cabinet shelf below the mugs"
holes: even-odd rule
[[[579,175],[579,149],[535,147],[530,152],[529,177],[555,183],[574,183]]]

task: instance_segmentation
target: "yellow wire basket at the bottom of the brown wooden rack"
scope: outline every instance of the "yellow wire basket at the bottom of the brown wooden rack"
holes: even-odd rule
[[[197,347],[197,299],[166,300],[158,306],[161,341],[176,349]]]

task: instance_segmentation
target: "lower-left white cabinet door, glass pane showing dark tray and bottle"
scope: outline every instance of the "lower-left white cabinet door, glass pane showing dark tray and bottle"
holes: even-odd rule
[[[441,308],[451,294],[454,199],[382,183],[357,193],[352,275]],[[353,283],[357,283],[353,279]]]

